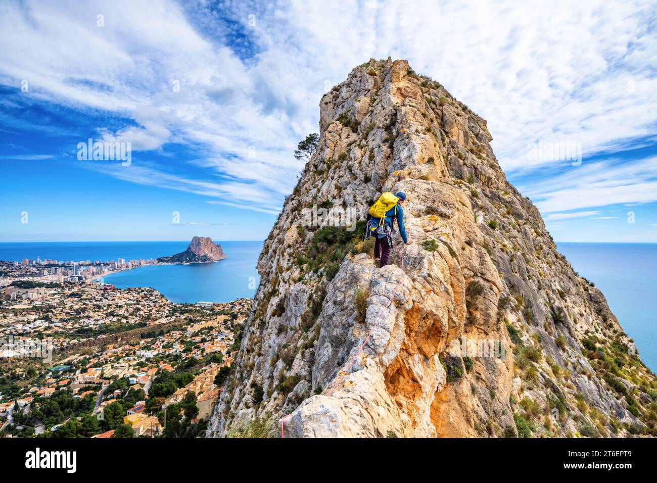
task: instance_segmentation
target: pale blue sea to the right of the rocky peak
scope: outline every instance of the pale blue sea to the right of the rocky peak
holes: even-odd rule
[[[641,360],[657,372],[657,244],[561,242],[557,248],[602,290]]]

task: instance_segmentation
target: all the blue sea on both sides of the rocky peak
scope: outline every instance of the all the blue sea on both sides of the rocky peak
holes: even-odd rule
[[[227,258],[213,264],[146,265],[103,277],[115,287],[152,287],[171,302],[229,302],[252,298],[260,278],[260,241],[218,242]],[[187,248],[170,242],[0,242],[0,260],[23,258],[116,260],[158,258]],[[657,372],[657,244],[558,242],[573,268],[602,290],[644,363]]]

